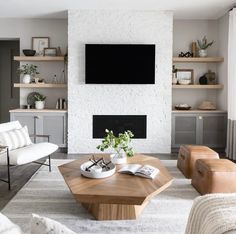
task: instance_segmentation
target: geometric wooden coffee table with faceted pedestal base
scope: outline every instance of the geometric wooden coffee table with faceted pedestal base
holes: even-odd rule
[[[80,165],[90,157],[61,165],[59,170],[75,199],[98,220],[136,219],[149,200],[173,181],[159,159],[141,154],[128,158],[128,163],[157,167],[160,172],[153,180],[117,172],[105,179],[89,179],[80,174]],[[117,170],[121,167],[117,165]]]

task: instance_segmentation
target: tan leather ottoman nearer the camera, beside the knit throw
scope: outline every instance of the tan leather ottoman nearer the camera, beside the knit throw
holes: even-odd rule
[[[235,193],[236,164],[228,159],[198,159],[192,177],[193,187],[206,193]]]

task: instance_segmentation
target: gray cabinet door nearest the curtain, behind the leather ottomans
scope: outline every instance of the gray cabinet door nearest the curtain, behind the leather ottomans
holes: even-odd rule
[[[226,146],[226,114],[202,116],[202,144],[209,147],[225,148]]]

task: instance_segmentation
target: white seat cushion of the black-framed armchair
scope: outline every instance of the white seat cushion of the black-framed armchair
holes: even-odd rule
[[[58,146],[52,143],[31,144],[9,152],[10,164],[23,165],[32,161],[44,158],[58,149]],[[0,165],[7,165],[6,153],[0,154]]]

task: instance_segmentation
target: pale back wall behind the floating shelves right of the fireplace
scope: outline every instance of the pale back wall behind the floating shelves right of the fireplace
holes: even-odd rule
[[[209,41],[214,40],[213,46],[208,49],[208,56],[224,56],[220,53],[222,47],[222,38],[219,38],[219,21],[218,20],[174,20],[173,31],[173,55],[178,56],[181,51],[191,51],[191,43],[206,36]],[[223,34],[223,32],[222,32]],[[226,58],[225,58],[226,59]],[[216,72],[219,83],[222,83],[222,72],[218,72],[219,66],[226,66],[226,62],[222,64],[206,64],[206,63],[176,63],[176,68],[194,69],[195,83],[199,83],[199,78],[209,69]],[[173,90],[173,106],[180,103],[187,103],[196,109],[204,100],[212,101],[218,109],[225,109],[225,103],[219,102],[218,96],[221,90]],[[225,93],[225,89],[223,91]],[[222,96],[222,100],[224,97]]]

